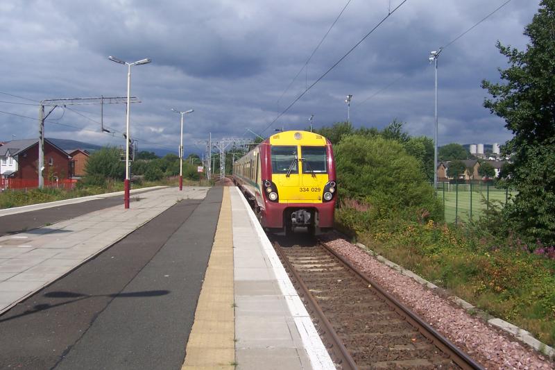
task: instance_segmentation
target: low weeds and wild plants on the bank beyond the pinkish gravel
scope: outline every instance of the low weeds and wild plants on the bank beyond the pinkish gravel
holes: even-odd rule
[[[495,237],[484,229],[486,219],[458,227],[432,220],[379,220],[358,205],[339,209],[336,220],[373,251],[554,346],[552,246],[525,244],[512,235]]]

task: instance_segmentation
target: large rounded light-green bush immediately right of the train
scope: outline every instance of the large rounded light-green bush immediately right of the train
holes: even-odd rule
[[[443,219],[420,163],[399,142],[346,136],[335,147],[335,160],[340,195],[364,199],[378,219],[416,219],[427,212],[432,219]]]

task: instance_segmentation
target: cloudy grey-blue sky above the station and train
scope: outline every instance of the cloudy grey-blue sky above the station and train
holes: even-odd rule
[[[140,103],[131,104],[130,136],[139,150],[177,153],[180,115],[171,108],[194,109],[185,115],[185,153],[201,153],[210,133],[268,137],[309,127],[311,115],[316,128],[346,121],[348,94],[353,126],[398,119],[410,135],[433,138],[428,57],[448,45],[438,58],[438,144],[503,143],[511,133],[483,107],[480,84],[507,67],[497,40],[526,48],[522,33],[539,0],[512,0],[450,42],[505,1],[2,0],[0,140],[38,137],[39,101],[126,96],[128,67],[108,56],[152,60],[131,68]],[[105,104],[102,116],[100,105],[58,107],[46,137],[124,145],[125,104]],[[101,119],[111,133],[101,133]]]

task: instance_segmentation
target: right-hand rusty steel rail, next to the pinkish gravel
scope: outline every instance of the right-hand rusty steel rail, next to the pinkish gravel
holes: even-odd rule
[[[343,258],[342,255],[336,253],[333,249],[330,248],[325,242],[320,241],[321,246],[333,255],[337,260],[339,260],[347,269],[353,271],[359,278],[364,280],[364,282],[370,285],[371,289],[375,289],[375,291],[385,299],[386,303],[388,303],[391,308],[393,308],[398,314],[400,314],[404,319],[407,319],[412,326],[418,329],[418,332],[424,335],[427,339],[432,341],[436,347],[438,347],[445,355],[449,356],[450,360],[452,360],[455,364],[457,364],[461,369],[472,369],[472,370],[484,370],[478,362],[470,358],[469,355],[461,351],[458,347],[456,347],[449,339],[443,337],[437,330],[432,328],[428,323],[422,321],[420,317],[418,317],[415,313],[413,313],[409,308],[407,308],[404,304],[400,303],[397,298],[388,294],[382,287],[380,287],[374,280],[368,278],[365,274],[363,274],[359,269],[354,267],[348,260]]]

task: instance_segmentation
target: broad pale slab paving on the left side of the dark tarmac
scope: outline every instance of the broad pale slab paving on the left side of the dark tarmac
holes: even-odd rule
[[[141,200],[131,203],[127,210],[123,208],[123,204],[113,205],[17,235],[0,236],[0,274],[16,273],[0,282],[0,314],[31,292],[36,292],[56,278],[67,274],[146,224],[176,202],[182,199],[204,199],[209,188],[183,189],[184,191],[180,192],[176,187],[158,188],[141,193]],[[49,205],[25,209],[35,210],[40,207],[48,208]],[[60,203],[56,203],[56,209],[59,207]],[[22,210],[10,212],[12,213],[8,217],[12,217],[13,212],[18,215]],[[63,210],[60,209],[58,212]],[[77,211],[72,208],[72,212]],[[0,215],[6,213],[8,211],[0,212]],[[17,274],[22,273],[26,275],[18,278]],[[41,276],[49,276],[50,279],[44,280]],[[22,285],[22,280],[27,284]],[[20,287],[20,294],[19,298],[14,299],[17,287]],[[5,292],[10,293],[9,299]]]

